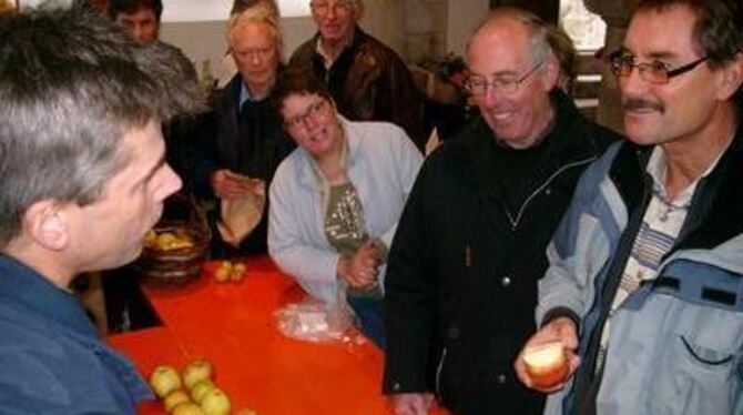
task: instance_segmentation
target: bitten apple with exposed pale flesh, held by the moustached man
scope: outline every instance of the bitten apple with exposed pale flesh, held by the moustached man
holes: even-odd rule
[[[550,388],[564,382],[570,365],[561,342],[529,347],[523,352],[523,364],[535,386]]]

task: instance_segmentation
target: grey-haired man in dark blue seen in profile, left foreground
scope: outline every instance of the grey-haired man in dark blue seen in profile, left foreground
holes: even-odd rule
[[[181,186],[161,121],[199,92],[89,8],[0,18],[0,413],[133,414],[152,394],[69,284],[139,255]]]

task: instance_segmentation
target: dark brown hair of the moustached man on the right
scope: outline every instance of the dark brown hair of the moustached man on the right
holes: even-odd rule
[[[634,12],[662,11],[675,6],[684,6],[696,16],[692,29],[694,49],[700,55],[708,57],[711,69],[721,68],[743,53],[741,0],[640,0]],[[739,108],[743,108],[743,87],[739,88],[734,100]]]

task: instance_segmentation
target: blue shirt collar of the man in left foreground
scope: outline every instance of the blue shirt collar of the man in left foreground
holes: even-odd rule
[[[93,323],[74,294],[7,255],[0,255],[0,296],[20,302],[81,335],[98,338]]]

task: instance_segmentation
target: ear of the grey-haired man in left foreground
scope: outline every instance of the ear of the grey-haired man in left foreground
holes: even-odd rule
[[[23,232],[35,244],[51,251],[61,251],[70,240],[68,220],[64,205],[51,200],[40,201],[23,214]]]

